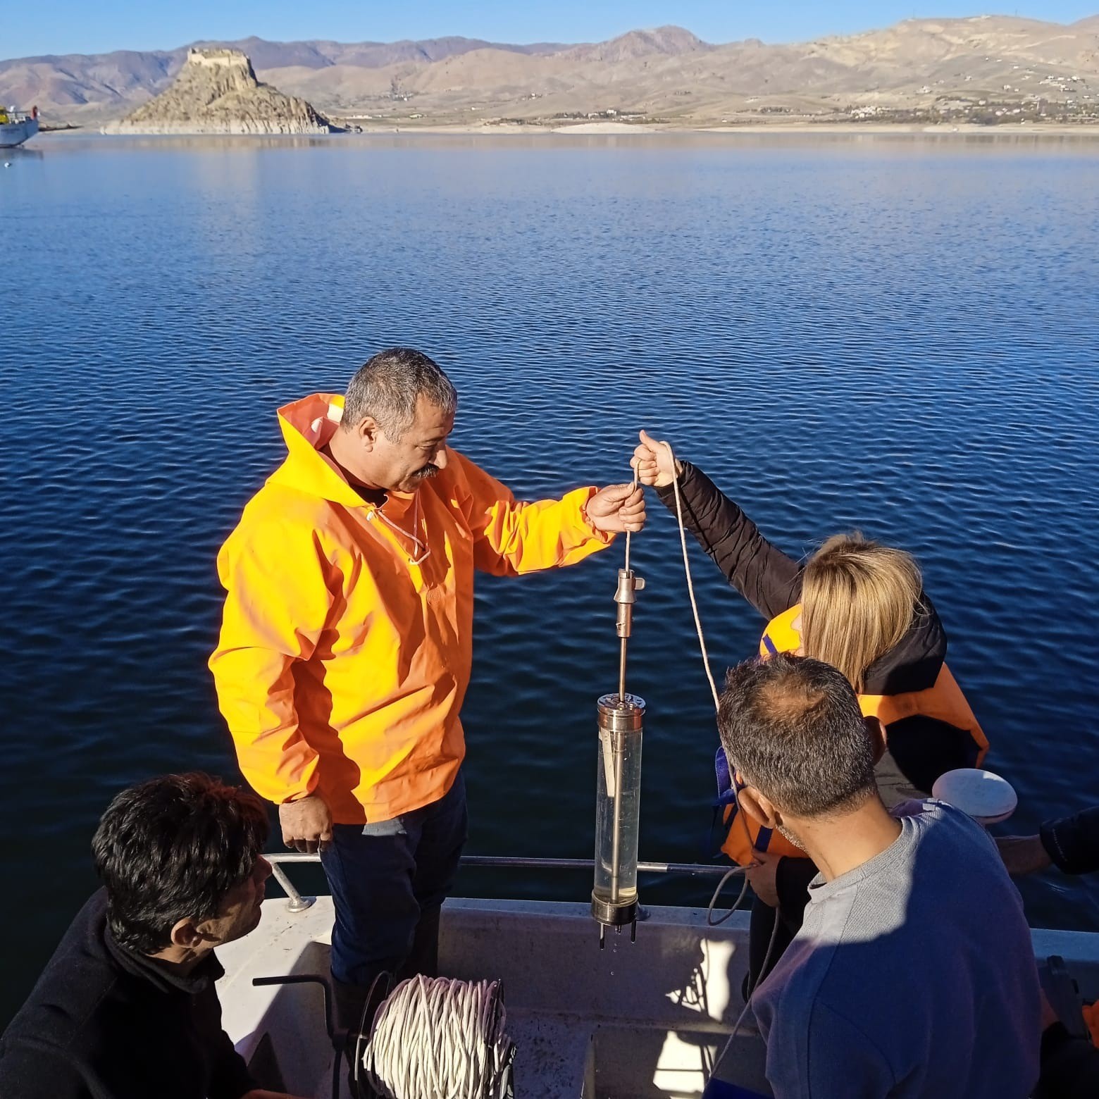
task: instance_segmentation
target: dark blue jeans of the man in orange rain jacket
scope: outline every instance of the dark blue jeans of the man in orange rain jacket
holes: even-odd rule
[[[375,824],[336,824],[321,855],[335,904],[332,976],[368,986],[382,972],[433,975],[439,911],[466,843],[458,771],[439,801]]]

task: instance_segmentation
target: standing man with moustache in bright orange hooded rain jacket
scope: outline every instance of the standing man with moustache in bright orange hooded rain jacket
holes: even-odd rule
[[[284,842],[321,853],[348,1026],[378,973],[435,969],[466,839],[474,569],[571,565],[645,521],[630,485],[517,503],[447,447],[456,406],[432,359],[396,347],[345,398],[280,409],[287,458],[218,557],[219,704]]]

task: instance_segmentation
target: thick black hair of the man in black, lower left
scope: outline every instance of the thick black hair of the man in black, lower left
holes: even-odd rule
[[[155,954],[180,920],[212,919],[252,874],[267,831],[259,798],[209,775],[165,775],[123,790],[91,841],[114,939]]]

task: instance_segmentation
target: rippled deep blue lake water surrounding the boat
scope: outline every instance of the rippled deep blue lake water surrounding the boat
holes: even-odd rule
[[[1099,798],[1099,141],[57,136],[4,159],[0,1022],[93,888],[110,797],[235,776],[214,555],[280,460],[275,409],[396,343],[445,366],[455,445],[521,497],[626,478],[644,425],[788,552],[908,547],[1011,830]],[[481,581],[470,852],[590,857],[621,556]],[[715,732],[655,500],[635,559],[642,857],[689,862]],[[693,559],[720,673],[761,623]],[[1094,880],[1023,891],[1032,923],[1099,925]]]

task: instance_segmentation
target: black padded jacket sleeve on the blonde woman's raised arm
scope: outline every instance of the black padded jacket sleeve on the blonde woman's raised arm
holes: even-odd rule
[[[797,562],[773,546],[755,523],[701,469],[682,463],[679,478],[684,525],[698,539],[729,582],[766,619],[792,607],[801,596]],[[675,514],[675,489],[657,496]]]

